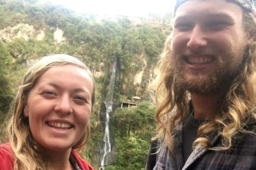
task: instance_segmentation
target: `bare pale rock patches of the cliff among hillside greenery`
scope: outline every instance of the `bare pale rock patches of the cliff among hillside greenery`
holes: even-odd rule
[[[59,27],[50,27],[50,30],[53,30],[53,37],[55,44],[62,43],[66,40],[64,37],[64,31]],[[20,23],[13,27],[6,27],[0,30],[1,41],[11,42],[15,38],[23,38],[28,41],[30,38],[36,38],[37,41],[41,41],[45,38],[45,29],[36,30],[33,25]],[[18,57],[22,54],[15,54],[15,57]],[[27,59],[24,66],[31,66],[36,59]],[[127,95],[132,93],[132,95],[140,96],[144,98],[145,91],[148,88],[151,80],[156,76],[157,71],[154,69],[154,66],[149,66],[146,54],[142,53],[140,55],[135,55],[131,60],[131,69],[128,71],[128,74],[122,75],[121,78],[124,80],[121,86],[122,94]],[[93,67],[91,70],[95,77],[103,77],[106,74],[105,64],[102,62]],[[132,91],[132,92],[131,92]]]

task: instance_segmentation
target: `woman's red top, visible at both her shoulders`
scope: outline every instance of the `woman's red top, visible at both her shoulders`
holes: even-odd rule
[[[81,170],[94,170],[94,168],[83,160],[75,151],[71,151]],[[0,145],[0,170],[12,170],[14,155],[10,143]]]

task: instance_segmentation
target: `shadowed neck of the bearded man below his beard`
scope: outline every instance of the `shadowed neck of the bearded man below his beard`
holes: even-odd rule
[[[212,119],[217,112],[220,95],[191,94],[194,118],[199,120]]]

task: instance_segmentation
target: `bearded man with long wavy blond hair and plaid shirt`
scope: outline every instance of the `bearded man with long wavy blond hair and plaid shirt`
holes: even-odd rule
[[[256,169],[255,4],[177,0],[146,170]]]

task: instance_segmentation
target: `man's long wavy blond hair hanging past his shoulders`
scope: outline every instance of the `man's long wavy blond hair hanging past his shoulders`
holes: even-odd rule
[[[207,137],[211,132],[219,132],[221,145],[212,147],[213,150],[225,150],[232,146],[232,137],[246,130],[249,121],[255,121],[256,106],[256,19],[249,13],[243,13],[244,30],[252,36],[254,43],[248,47],[241,73],[233,80],[227,91],[224,101],[219,103],[219,111],[214,119],[201,125],[197,132],[197,139],[193,146],[209,148],[210,140]],[[184,118],[190,114],[188,109],[188,92],[178,89],[174,82],[174,70],[170,64],[171,36],[166,42],[160,56],[160,73],[154,80],[156,87],[156,101],[158,108],[155,113],[157,121],[156,135],[160,144],[165,140],[168,148],[173,151],[173,132]]]

